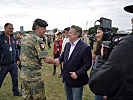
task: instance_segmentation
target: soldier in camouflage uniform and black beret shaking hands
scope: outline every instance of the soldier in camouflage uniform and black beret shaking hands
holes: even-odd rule
[[[39,37],[46,32],[47,26],[46,21],[36,19],[32,27],[33,33],[25,36],[22,40],[20,76],[22,96],[25,100],[46,100],[44,82],[41,78],[41,59],[46,63],[56,64],[55,60],[48,56],[44,42]]]

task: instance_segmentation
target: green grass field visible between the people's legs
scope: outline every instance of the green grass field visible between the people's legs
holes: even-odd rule
[[[52,48],[47,51],[49,52],[49,56],[53,57],[53,43],[51,44],[51,47]],[[58,75],[60,74],[60,67],[57,67],[56,71],[56,75],[52,76],[53,65],[46,64],[43,62],[42,78],[45,82],[45,93],[47,100],[66,100],[62,79],[58,78]],[[21,81],[19,77],[19,88],[20,84]],[[22,97],[13,96],[12,82],[9,73],[6,76],[2,87],[0,88],[0,100],[23,100]],[[94,94],[90,91],[88,85],[84,86],[83,100],[94,100]]]

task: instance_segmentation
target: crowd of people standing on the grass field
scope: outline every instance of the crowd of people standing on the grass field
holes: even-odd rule
[[[125,10],[133,13],[133,6]],[[133,18],[131,22],[133,30]],[[41,39],[47,26],[45,20],[35,19],[33,31],[22,38],[19,34],[12,35],[13,24],[4,25],[0,34],[0,88],[9,72],[14,96],[22,96],[24,100],[46,100],[41,74],[43,60],[53,64],[53,76],[60,65],[59,78],[63,79],[67,100],[82,100],[83,87],[87,84],[95,94],[94,100],[133,100],[133,33],[122,38],[104,59],[106,50],[101,42],[105,37],[104,29],[99,27],[95,36],[88,37],[88,30],[83,34],[81,27],[72,25],[62,32],[53,32],[52,58],[46,50],[46,39]],[[51,49],[50,35],[47,35],[47,43]],[[18,89],[18,67],[21,91]]]

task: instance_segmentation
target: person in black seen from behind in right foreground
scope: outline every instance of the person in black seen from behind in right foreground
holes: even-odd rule
[[[89,86],[92,92],[106,95],[107,100],[133,100],[133,33],[115,46],[107,61],[103,60],[102,54],[103,48],[90,74]]]

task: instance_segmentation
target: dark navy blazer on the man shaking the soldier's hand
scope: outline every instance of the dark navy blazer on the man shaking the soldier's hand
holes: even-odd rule
[[[59,61],[64,62],[63,80],[67,86],[81,87],[88,83],[87,71],[92,64],[91,49],[88,44],[79,40],[68,60],[70,47],[70,42],[66,43],[64,52],[59,57]],[[76,72],[78,78],[71,78],[70,72]]]

